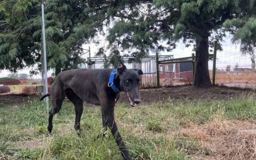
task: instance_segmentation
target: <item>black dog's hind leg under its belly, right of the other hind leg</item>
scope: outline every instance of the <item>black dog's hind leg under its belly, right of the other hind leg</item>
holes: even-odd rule
[[[83,110],[84,110],[83,100],[81,98],[79,98],[76,95],[76,93],[73,92],[70,89],[66,90],[66,95],[67,95],[68,99],[75,106],[75,112],[76,112],[75,129],[76,129],[76,131],[79,131],[79,132],[77,132],[77,135],[79,137],[81,137],[81,134],[80,134],[80,132],[81,132],[81,130],[80,130],[81,124],[80,124],[80,121],[81,121],[81,116],[82,116],[82,113],[83,113]]]

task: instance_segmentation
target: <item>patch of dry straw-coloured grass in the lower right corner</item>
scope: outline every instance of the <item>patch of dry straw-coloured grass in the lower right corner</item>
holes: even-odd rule
[[[192,138],[202,150],[194,159],[256,159],[255,121],[228,121],[214,118],[203,125],[190,124],[175,133],[183,139]],[[194,152],[194,151],[192,151]]]

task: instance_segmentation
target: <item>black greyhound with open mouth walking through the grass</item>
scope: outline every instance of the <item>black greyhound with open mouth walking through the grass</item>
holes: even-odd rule
[[[140,69],[126,69],[122,60],[116,71],[114,69],[72,69],[63,71],[56,76],[51,86],[51,92],[45,94],[41,100],[50,96],[52,100],[52,108],[49,115],[48,131],[52,132],[53,115],[60,111],[62,102],[67,98],[75,105],[76,119],[75,129],[80,136],[80,120],[83,113],[83,101],[101,106],[102,125],[104,130],[107,127],[111,130],[112,135],[116,139],[116,143],[121,151],[124,159],[130,160],[129,152],[118,132],[114,119],[114,107],[120,94],[112,89],[114,84],[117,91],[123,90],[132,107],[140,103],[140,82],[143,74]],[[109,84],[110,74],[113,76],[113,83]],[[104,135],[103,135],[104,136]]]

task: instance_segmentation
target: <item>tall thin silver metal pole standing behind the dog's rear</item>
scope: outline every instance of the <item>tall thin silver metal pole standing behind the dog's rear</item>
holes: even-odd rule
[[[48,84],[47,84],[47,63],[46,63],[46,46],[45,46],[45,30],[44,30],[44,2],[42,3],[42,31],[43,31],[43,46],[44,46],[44,94],[48,93]],[[49,101],[48,97],[45,99],[46,102],[46,113],[49,113]]]

